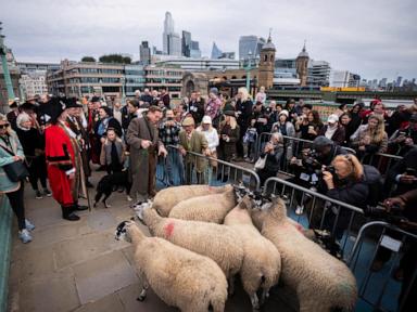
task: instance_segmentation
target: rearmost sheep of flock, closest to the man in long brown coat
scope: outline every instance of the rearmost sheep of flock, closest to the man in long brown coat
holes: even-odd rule
[[[210,185],[172,186],[157,192],[155,197],[153,197],[153,200],[148,200],[148,203],[144,203],[144,205],[149,205],[149,203],[152,203],[152,208],[156,209],[160,216],[168,217],[170,209],[173,209],[173,207],[178,203],[195,196],[223,193],[227,190],[226,186],[218,186],[218,187],[210,186]],[[136,208],[136,210],[140,211],[142,209],[142,205],[139,205]]]

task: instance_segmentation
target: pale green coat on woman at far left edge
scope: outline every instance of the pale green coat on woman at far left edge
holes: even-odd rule
[[[21,182],[10,181],[8,174],[5,174],[3,167],[12,164],[15,160],[3,147],[11,150],[15,155],[25,158],[23,147],[16,133],[12,132],[9,136],[10,145],[8,145],[2,139],[0,139],[0,194],[15,192],[21,187]]]

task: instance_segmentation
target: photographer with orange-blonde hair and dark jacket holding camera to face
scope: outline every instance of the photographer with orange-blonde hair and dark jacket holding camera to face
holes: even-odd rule
[[[331,166],[323,169],[325,195],[359,208],[366,208],[374,200],[371,185],[380,185],[381,174],[372,166],[362,165],[354,155],[336,156]],[[374,203],[372,203],[374,204]],[[338,207],[330,206],[326,212],[325,229],[331,231],[337,218]],[[340,240],[349,225],[351,211],[339,209],[334,237]]]

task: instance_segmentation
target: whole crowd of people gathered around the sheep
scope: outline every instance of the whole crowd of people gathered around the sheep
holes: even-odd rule
[[[174,184],[176,174],[181,184],[193,183],[192,172],[197,183],[207,183],[207,168],[218,169],[222,165],[216,159],[222,159],[256,161],[263,185],[287,164],[299,185],[364,209],[384,200],[390,210],[394,203],[405,217],[417,221],[410,193],[417,186],[417,101],[394,110],[388,110],[378,99],[368,108],[361,101],[352,107],[340,104],[326,120],[303,100],[288,100],[285,105],[268,101],[264,88],[254,101],[245,88],[239,88],[233,98],[212,88],[206,99],[195,91],[174,105],[167,90],[144,89],[137,90],[126,105],[100,96],[42,95],[22,105],[13,102],[10,108],[7,116],[0,115],[0,192],[16,214],[23,243],[33,239],[35,227],[25,218],[26,180],[35,198],[53,196],[63,219],[77,221],[76,211],[88,209],[78,199],[86,198],[87,188],[93,186],[89,180],[92,170],[127,172],[131,182],[128,199],[135,206],[155,195],[159,158],[165,159],[168,184]],[[270,136],[258,144],[265,132]],[[302,143],[295,148],[291,138]],[[258,146],[261,151],[256,151]],[[190,152],[210,156],[210,160]],[[381,183],[380,172],[361,164],[378,153],[403,156],[384,172],[382,188],[376,187]],[[27,177],[12,178],[10,164],[24,165]],[[381,194],[391,194],[391,198]],[[332,209],[328,211],[327,223],[336,218]],[[338,218],[336,236],[340,239],[349,217],[341,213]],[[416,263],[415,252],[405,258],[404,263]],[[375,269],[387,259],[389,252],[380,251]],[[402,270],[408,272],[412,266],[404,264]]]

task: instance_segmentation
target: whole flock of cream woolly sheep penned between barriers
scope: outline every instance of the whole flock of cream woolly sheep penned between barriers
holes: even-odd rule
[[[176,186],[160,191],[137,214],[152,237],[125,221],[116,238],[136,245],[144,281],[139,300],[151,286],[181,311],[220,312],[239,275],[253,310],[278,282],[296,291],[300,311],[355,307],[349,268],[308,239],[279,198],[260,203],[232,185]]]

